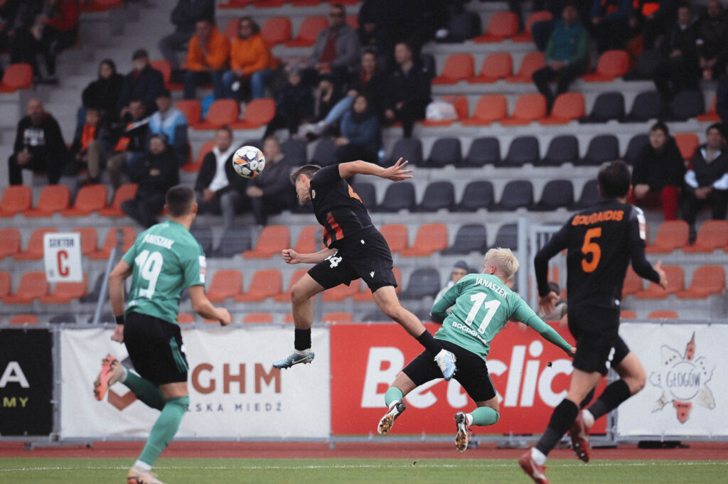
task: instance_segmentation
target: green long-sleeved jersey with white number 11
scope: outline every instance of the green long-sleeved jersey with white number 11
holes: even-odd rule
[[[452,306],[448,315],[447,309]],[[564,351],[566,343],[553,328],[539,318],[521,296],[506,287],[492,274],[467,274],[432,306],[432,317],[443,327],[435,338],[450,341],[461,348],[488,357],[491,341],[508,320],[529,325]]]

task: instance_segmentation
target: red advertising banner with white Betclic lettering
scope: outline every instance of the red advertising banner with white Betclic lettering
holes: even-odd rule
[[[555,330],[573,344],[569,330]],[[427,325],[435,333],[439,325]],[[376,433],[384,415],[384,393],[400,370],[422,352],[414,338],[393,323],[331,326],[331,408],[334,435]],[[552,366],[547,366],[547,362]],[[473,427],[483,434],[534,434],[546,428],[553,408],[566,396],[571,359],[534,330],[509,323],[493,341],[488,372],[496,388],[500,420]],[[604,381],[598,387],[603,388]],[[406,397],[408,410],[395,423],[396,434],[454,432],[453,416],[475,408],[453,378],[420,386]],[[603,433],[604,419],[593,432]]]

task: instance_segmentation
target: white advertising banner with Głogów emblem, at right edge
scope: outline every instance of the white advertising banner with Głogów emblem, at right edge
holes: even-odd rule
[[[617,435],[728,435],[728,325],[625,323],[620,334],[647,381],[620,405]]]

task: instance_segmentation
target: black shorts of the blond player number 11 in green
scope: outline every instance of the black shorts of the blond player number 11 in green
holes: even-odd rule
[[[488,367],[483,358],[450,341],[438,339],[438,342],[455,355],[457,370],[453,378],[459,381],[473,401],[484,402],[496,396],[496,389],[491,377],[488,376]],[[435,378],[443,378],[438,364],[428,352],[420,353],[402,371],[416,386],[426,384]]]

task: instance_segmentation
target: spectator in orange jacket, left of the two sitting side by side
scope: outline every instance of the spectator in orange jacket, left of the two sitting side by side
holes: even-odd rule
[[[189,41],[184,74],[184,98],[194,99],[197,86],[213,84],[215,99],[225,97],[223,74],[230,57],[230,42],[210,20],[197,20]]]

